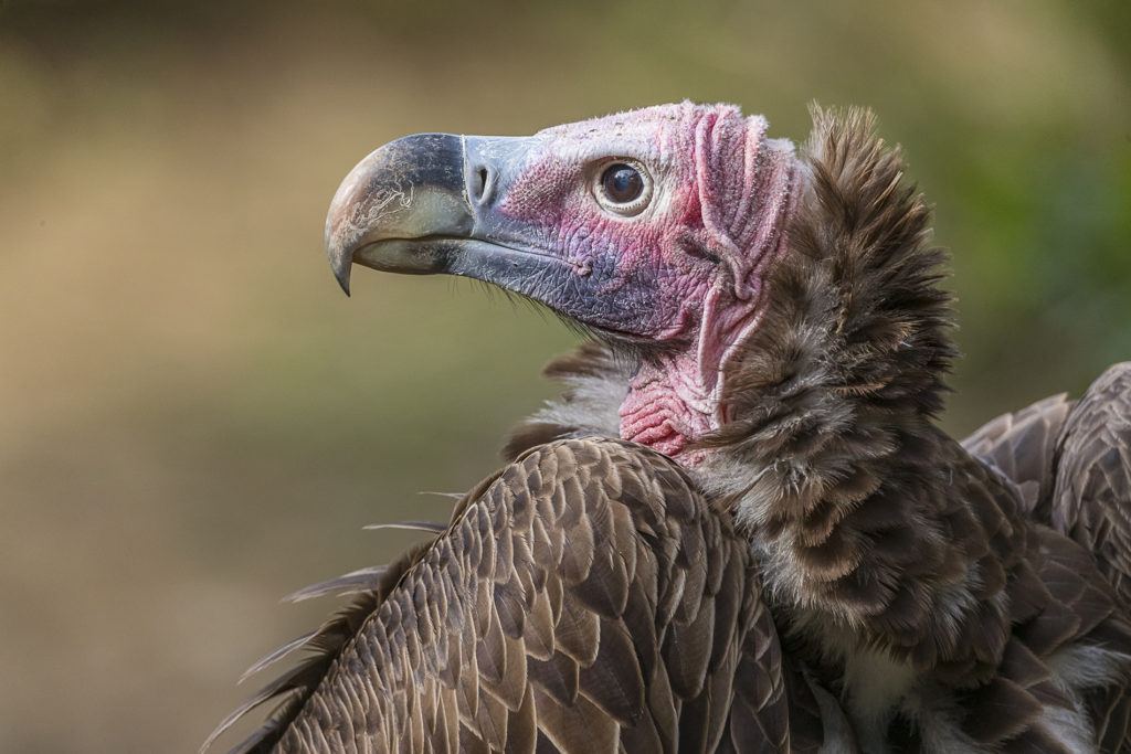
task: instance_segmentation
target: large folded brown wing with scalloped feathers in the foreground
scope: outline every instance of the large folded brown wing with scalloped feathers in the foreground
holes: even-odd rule
[[[301,682],[266,694],[297,699],[239,751],[789,746],[749,546],[629,443],[524,453],[328,626]]]

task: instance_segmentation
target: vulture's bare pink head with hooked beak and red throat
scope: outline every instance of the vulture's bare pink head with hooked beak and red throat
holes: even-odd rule
[[[680,456],[727,418],[727,366],[766,310],[805,182],[793,145],[731,105],[527,138],[422,133],[349,173],[326,241],[344,288],[353,263],[447,272],[580,323],[638,365],[621,436]]]

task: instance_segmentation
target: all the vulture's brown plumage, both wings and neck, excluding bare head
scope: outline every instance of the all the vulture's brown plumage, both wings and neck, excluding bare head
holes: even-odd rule
[[[247,751],[1131,745],[1128,370],[965,444],[939,431],[955,350],[929,208],[867,113],[814,116],[705,460],[592,436],[618,434],[647,350],[556,362],[567,392],[513,462],[433,541],[340,582],[359,607],[252,700],[290,699]]]

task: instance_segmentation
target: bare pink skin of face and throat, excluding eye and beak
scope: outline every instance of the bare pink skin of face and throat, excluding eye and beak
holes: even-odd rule
[[[621,437],[684,466],[703,458],[688,444],[727,419],[727,367],[758,326],[803,181],[793,145],[766,130],[737,107],[691,103],[549,129],[501,205],[523,233],[539,228],[542,245],[588,286],[577,319],[685,344],[647,359],[620,407]],[[620,157],[655,182],[636,216],[610,215],[586,184],[587,165]],[[575,315],[570,287],[554,285],[530,293]]]

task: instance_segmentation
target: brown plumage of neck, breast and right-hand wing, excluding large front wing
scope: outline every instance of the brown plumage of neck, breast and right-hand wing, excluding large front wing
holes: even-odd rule
[[[1131,391],[1107,379],[1082,404],[1104,406],[1089,430],[1062,399],[1018,415],[1024,432],[992,423],[969,444],[998,469],[934,426],[953,356],[944,255],[872,129],[818,113],[789,253],[696,479],[751,537],[787,651],[839,690],[866,751],[1119,751],[1131,627],[1096,558],[1120,584]],[[631,369],[593,346],[552,366],[566,397],[511,447],[608,431],[573,406]]]

